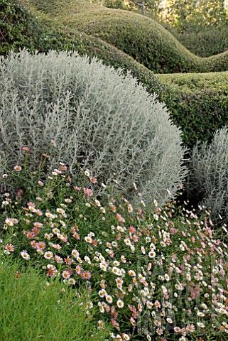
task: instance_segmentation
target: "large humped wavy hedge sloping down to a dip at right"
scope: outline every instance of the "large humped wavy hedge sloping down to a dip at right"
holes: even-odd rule
[[[87,0],[31,0],[53,23],[82,31],[115,45],[158,73],[228,70],[228,52],[211,58],[190,53],[170,32],[140,14],[90,4]],[[50,6],[53,8],[50,10]]]

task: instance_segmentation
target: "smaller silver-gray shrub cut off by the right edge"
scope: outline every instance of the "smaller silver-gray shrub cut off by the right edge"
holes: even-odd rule
[[[190,159],[188,192],[210,207],[212,217],[228,221],[228,130],[215,132],[211,144],[197,144]]]

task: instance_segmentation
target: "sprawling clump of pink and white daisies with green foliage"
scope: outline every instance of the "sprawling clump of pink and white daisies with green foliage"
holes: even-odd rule
[[[50,281],[86,285],[112,339],[225,340],[228,249],[209,215],[156,200],[150,210],[124,197],[104,205],[89,171],[70,178],[63,164],[48,177],[23,167],[13,176],[23,188],[2,195],[1,251]]]

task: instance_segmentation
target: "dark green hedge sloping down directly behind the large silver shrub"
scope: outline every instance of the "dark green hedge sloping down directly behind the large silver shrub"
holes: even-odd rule
[[[12,49],[17,52],[20,48],[39,52],[48,52],[50,49],[77,50],[80,55],[97,56],[106,65],[121,68],[124,72],[131,71],[134,77],[150,89],[160,89],[160,82],[153,72],[130,55],[86,33],[63,32],[50,27],[46,16],[28,1],[23,0],[22,3],[20,0],[3,0],[0,18],[1,16],[5,22],[1,26],[0,55],[7,55]],[[41,21],[38,20],[40,18]]]

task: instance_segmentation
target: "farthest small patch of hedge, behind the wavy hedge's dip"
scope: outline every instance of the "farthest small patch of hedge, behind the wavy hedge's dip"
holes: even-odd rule
[[[190,33],[171,32],[185,48],[200,57],[210,57],[228,50],[228,26],[205,27]]]

